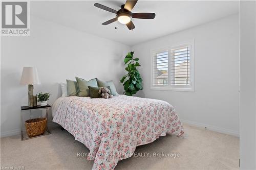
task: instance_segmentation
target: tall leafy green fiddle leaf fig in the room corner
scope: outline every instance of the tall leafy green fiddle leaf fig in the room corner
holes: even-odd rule
[[[142,90],[142,79],[140,77],[139,71],[137,70],[137,67],[140,66],[138,63],[138,58],[133,58],[134,52],[130,52],[126,55],[124,58],[124,64],[127,64],[127,67],[125,67],[125,70],[127,71],[127,74],[122,77],[120,80],[121,83],[123,83],[124,87],[124,94],[125,95],[133,95],[136,94],[137,91]]]

